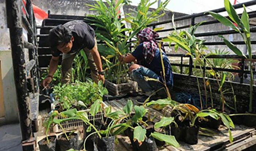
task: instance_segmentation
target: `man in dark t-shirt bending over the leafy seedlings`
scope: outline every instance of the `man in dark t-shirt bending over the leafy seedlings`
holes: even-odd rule
[[[97,49],[95,32],[88,24],[81,20],[74,20],[64,25],[58,25],[50,30],[49,43],[52,50],[52,59],[49,64],[48,76],[42,82],[44,87],[52,81],[61,53],[63,53],[61,83],[71,82],[72,63],[81,49],[86,53],[93,81],[97,83],[98,80],[102,80],[104,82],[104,71]]]

